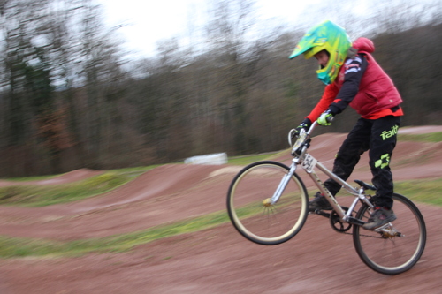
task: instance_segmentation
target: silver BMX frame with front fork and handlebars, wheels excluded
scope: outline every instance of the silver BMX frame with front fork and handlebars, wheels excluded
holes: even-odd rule
[[[348,185],[346,181],[335,175],[331,172],[331,170],[328,170],[324,164],[321,162],[318,162],[315,157],[312,155],[309,155],[307,153],[307,149],[309,147],[308,140],[309,135],[313,131],[313,129],[316,127],[316,122],[312,124],[309,131],[306,133],[301,133],[299,136],[301,140],[300,143],[298,141],[293,145],[293,151],[292,154],[295,154],[295,152],[301,148],[301,152],[299,155],[295,155],[292,160],[292,164],[290,165],[289,171],[286,173],[286,175],[282,178],[281,182],[278,185],[278,189],[271,197],[271,203],[274,204],[278,201],[279,197],[281,196],[281,193],[286,189],[286,185],[288,184],[291,177],[293,177],[293,174],[297,170],[297,167],[301,165],[302,169],[305,170],[305,172],[309,175],[309,177],[313,180],[317,188],[320,192],[323,193],[325,196],[325,199],[329,201],[331,207],[333,207],[333,210],[339,215],[339,218],[343,220],[344,222],[350,222],[357,225],[362,225],[363,222],[360,220],[355,219],[351,216],[354,207],[356,207],[357,203],[359,201],[362,201],[366,203],[370,209],[373,208],[373,204],[367,199],[365,195],[365,188],[363,186],[359,188],[354,188],[351,185]],[[292,132],[291,132],[292,133]],[[289,134],[289,142],[291,144],[291,133]],[[298,143],[298,144],[297,144]],[[291,144],[292,145],[292,144]],[[347,213],[340,207],[338,200],[331,194],[331,192],[328,191],[328,189],[324,186],[324,183],[321,181],[321,179],[317,176],[315,172],[315,168],[318,170],[321,170],[326,176],[331,177],[333,180],[335,180],[337,183],[342,185],[344,189],[347,190],[347,192],[350,192],[352,195],[355,196],[355,199],[351,206],[348,208]]]

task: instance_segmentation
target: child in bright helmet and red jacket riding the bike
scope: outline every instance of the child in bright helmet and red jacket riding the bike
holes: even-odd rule
[[[392,211],[390,161],[403,115],[400,94],[371,56],[374,49],[373,42],[366,38],[359,38],[352,44],[345,29],[326,20],[309,29],[289,57],[301,54],[306,59],[316,57],[319,64],[317,78],[327,85],[316,107],[296,128],[298,132],[308,130],[315,120],[320,125],[330,125],[331,118],[348,105],[361,115],[339,147],[332,171],[347,180],[361,155],[370,150],[372,183],[377,192],[375,210],[362,226],[366,230],[374,230],[396,219]],[[324,185],[333,195],[341,188],[331,178]],[[309,211],[316,209],[332,209],[320,192],[309,201]]]

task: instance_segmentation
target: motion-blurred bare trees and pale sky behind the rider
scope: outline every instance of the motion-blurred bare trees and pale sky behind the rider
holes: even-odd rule
[[[146,17],[165,13],[149,2]],[[374,41],[404,100],[402,126],[442,124],[440,1],[287,9],[278,19],[260,1],[202,1],[182,11],[179,34],[140,54],[130,21],[110,20],[103,1],[0,0],[0,177],[286,148],[324,89],[316,61],[288,56],[324,19]],[[349,108],[321,131],[347,132],[357,117]]]

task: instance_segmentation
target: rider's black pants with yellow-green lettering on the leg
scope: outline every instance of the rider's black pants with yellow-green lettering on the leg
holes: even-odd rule
[[[400,117],[381,117],[378,119],[360,118],[354,125],[347,139],[339,148],[333,164],[333,173],[347,181],[361,155],[369,151],[372,183],[376,186],[376,206],[392,207],[392,171],[390,160],[392,150],[396,147]],[[329,178],[325,187],[336,195],[341,186]]]

